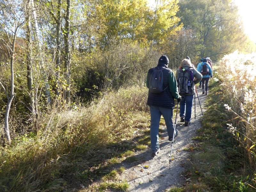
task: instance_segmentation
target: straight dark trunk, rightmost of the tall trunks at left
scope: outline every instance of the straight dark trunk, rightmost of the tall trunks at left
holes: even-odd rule
[[[68,84],[67,97],[70,99],[70,0],[67,0],[67,11],[66,11],[66,25],[65,25],[65,76]]]

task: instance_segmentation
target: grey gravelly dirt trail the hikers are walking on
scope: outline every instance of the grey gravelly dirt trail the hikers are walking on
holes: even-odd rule
[[[203,95],[202,89],[198,88],[197,92],[204,112],[204,100],[209,96]],[[185,170],[183,164],[188,161],[189,152],[183,149],[193,144],[194,141],[191,140],[191,138],[195,136],[196,131],[201,128],[202,112],[197,97],[196,119],[194,110],[193,104],[191,123],[188,126],[184,126],[184,123],[180,123],[178,113],[176,129],[179,130],[179,135],[174,139],[172,150],[174,160],[171,161],[171,164],[169,164],[170,157],[168,156],[171,152],[171,142],[168,141],[167,132],[162,133],[164,139],[160,139],[160,153],[158,153],[157,156],[152,158],[149,149],[143,153],[137,152],[135,154],[135,156],[140,159],[139,162],[122,163],[122,166],[124,166],[126,170],[122,173],[121,177],[126,179],[130,184],[127,190],[128,192],[162,192],[165,189],[175,186],[180,187],[185,184],[186,179],[181,173]],[[175,121],[175,115],[176,114],[173,115],[173,121]],[[161,126],[161,128],[166,130],[165,126]]]

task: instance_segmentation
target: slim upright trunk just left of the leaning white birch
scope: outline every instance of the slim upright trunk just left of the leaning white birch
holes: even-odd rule
[[[35,110],[35,95],[34,95],[34,85],[32,80],[32,33],[31,33],[31,1],[28,0],[26,3],[26,24],[27,24],[27,84],[29,92],[29,110],[32,113],[33,119],[36,117]]]

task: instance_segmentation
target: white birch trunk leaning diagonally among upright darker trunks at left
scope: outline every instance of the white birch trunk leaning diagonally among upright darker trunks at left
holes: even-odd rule
[[[33,10],[33,16],[34,16],[34,30],[35,30],[35,37],[37,40],[37,47],[38,47],[38,52],[39,52],[39,58],[41,59],[40,61],[40,67],[43,71],[44,74],[44,89],[45,89],[45,96],[47,97],[47,104],[52,103],[51,95],[50,95],[50,86],[48,83],[48,75],[46,74],[46,71],[44,70],[44,55],[42,54],[42,47],[40,44],[40,34],[39,34],[39,28],[38,28],[38,23],[37,23],[37,17],[36,17],[36,10],[35,10],[35,4],[34,0],[31,0],[31,5],[32,5],[32,10]]]

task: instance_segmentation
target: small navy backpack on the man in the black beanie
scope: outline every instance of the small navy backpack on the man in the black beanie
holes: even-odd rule
[[[155,67],[152,69],[153,69],[153,72],[150,76],[149,83],[148,83],[149,91],[151,93],[161,93],[168,87],[167,86],[163,89],[163,83],[164,83],[163,70],[164,70],[164,68]]]

